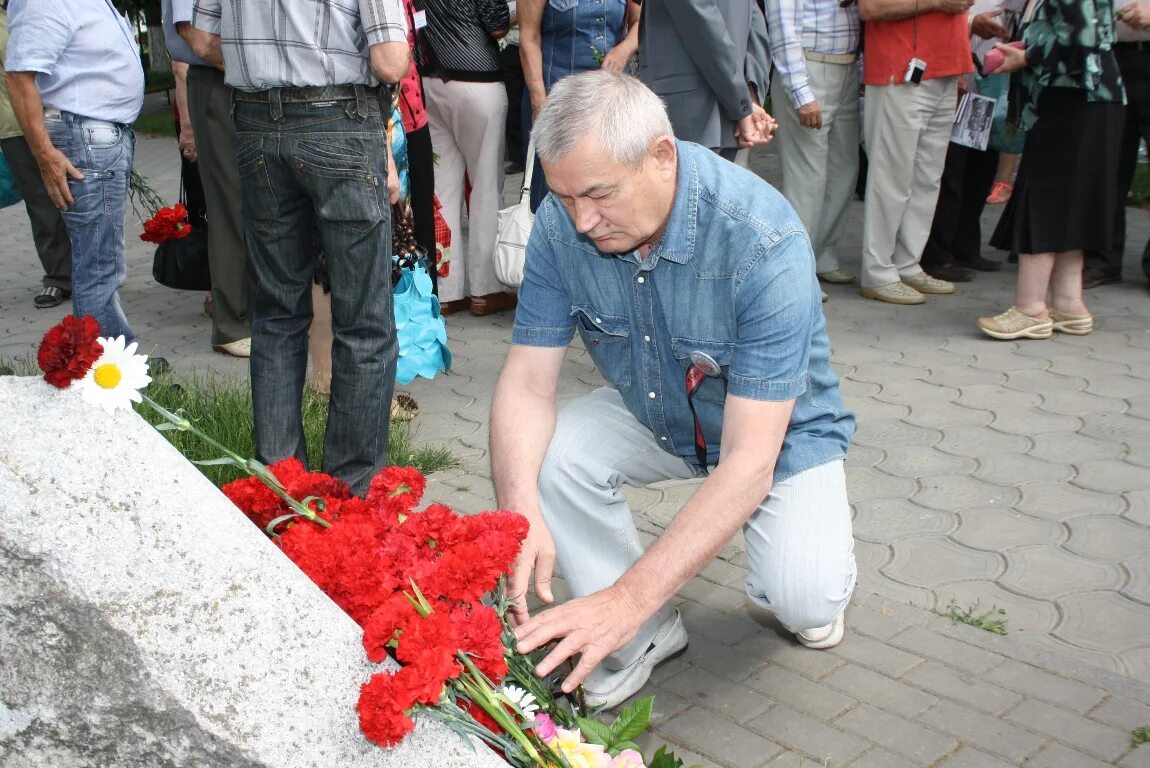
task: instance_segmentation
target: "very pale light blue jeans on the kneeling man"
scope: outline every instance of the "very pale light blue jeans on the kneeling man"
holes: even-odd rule
[[[539,497],[572,594],[611,586],[643,554],[622,485],[696,476],[659,447],[616,390],[600,387],[561,408],[539,473]],[[775,483],[743,524],[743,537],[746,593],[788,629],[825,627],[846,609],[857,571],[842,461]],[[669,615],[665,606],[604,663],[630,666]]]

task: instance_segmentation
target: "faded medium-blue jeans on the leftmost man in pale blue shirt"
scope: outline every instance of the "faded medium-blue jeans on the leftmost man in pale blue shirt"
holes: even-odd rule
[[[71,113],[44,116],[52,145],[84,175],[68,179],[72,202],[63,212],[71,240],[72,314],[92,315],[101,336],[135,340],[120,306],[120,286],[128,275],[124,214],[136,135],[121,123]]]

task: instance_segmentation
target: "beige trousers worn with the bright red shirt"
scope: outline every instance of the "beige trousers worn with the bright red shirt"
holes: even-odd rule
[[[919,260],[930,236],[957,102],[957,77],[866,86],[864,287],[922,271]]]

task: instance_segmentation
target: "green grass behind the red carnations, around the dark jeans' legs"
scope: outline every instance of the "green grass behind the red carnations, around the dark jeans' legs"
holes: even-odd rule
[[[156,377],[147,389],[148,395],[171,412],[183,410],[212,438],[218,440],[241,456],[255,455],[252,435],[252,390],[246,379],[220,376]],[[137,413],[152,424],[161,416],[146,406],[137,406]],[[304,390],[304,438],[307,441],[308,467],[319,469],[323,463],[323,431],[328,425],[328,401]],[[190,461],[216,459],[215,451],[198,437],[178,430],[169,430],[163,436]],[[388,435],[388,461],[392,464],[412,466],[424,475],[455,467],[459,460],[445,446],[416,446],[411,422],[391,422]],[[208,479],[223,485],[243,473],[235,467],[200,467]]]

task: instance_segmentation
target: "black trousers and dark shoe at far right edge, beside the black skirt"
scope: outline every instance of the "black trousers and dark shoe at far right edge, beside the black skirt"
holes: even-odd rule
[[[1118,68],[1126,86],[1126,123],[1122,126],[1121,154],[1118,161],[1118,207],[1114,212],[1114,237],[1109,253],[1089,251],[1088,269],[1121,276],[1126,254],[1126,195],[1134,183],[1138,164],[1138,146],[1150,143],[1150,44],[1119,43],[1114,47]],[[1150,243],[1142,252],[1142,271],[1150,278]]]

